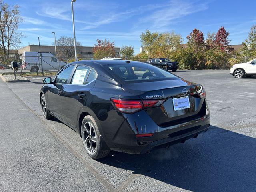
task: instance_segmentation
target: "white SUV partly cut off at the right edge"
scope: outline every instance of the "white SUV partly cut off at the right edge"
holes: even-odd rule
[[[256,75],[256,59],[247,63],[238,63],[231,67],[229,74],[234,75],[235,78],[251,77]]]

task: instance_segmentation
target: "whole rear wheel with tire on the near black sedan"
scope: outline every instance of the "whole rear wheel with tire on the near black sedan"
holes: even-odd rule
[[[81,125],[81,136],[86,153],[92,159],[100,159],[108,156],[109,150],[102,150],[103,140],[100,131],[90,115],[84,117]]]

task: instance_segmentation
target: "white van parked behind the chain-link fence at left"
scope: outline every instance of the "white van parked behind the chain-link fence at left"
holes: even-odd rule
[[[67,63],[59,61],[50,52],[42,52],[42,62],[40,58],[40,52],[35,51],[25,51],[23,52],[22,59],[22,69],[30,70],[31,72],[45,70],[60,70]]]

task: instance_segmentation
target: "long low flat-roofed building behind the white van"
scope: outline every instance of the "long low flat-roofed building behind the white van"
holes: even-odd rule
[[[80,57],[85,58],[91,58],[93,57],[92,48],[93,47],[85,47],[85,46],[77,46],[77,54]],[[55,46],[54,45],[40,45],[41,52],[50,52],[51,54],[55,55]],[[120,56],[120,47],[114,48],[116,52],[116,56]],[[24,51],[36,51],[39,52],[39,46],[38,45],[27,45],[25,47],[22,47],[18,49],[18,54],[23,54]],[[58,52],[58,46],[57,46],[57,52]]]

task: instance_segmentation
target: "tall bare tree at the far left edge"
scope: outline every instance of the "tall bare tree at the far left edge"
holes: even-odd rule
[[[0,0],[0,48],[5,55],[9,54],[10,48],[20,45],[24,35],[17,29],[23,21],[18,5],[11,6]]]

